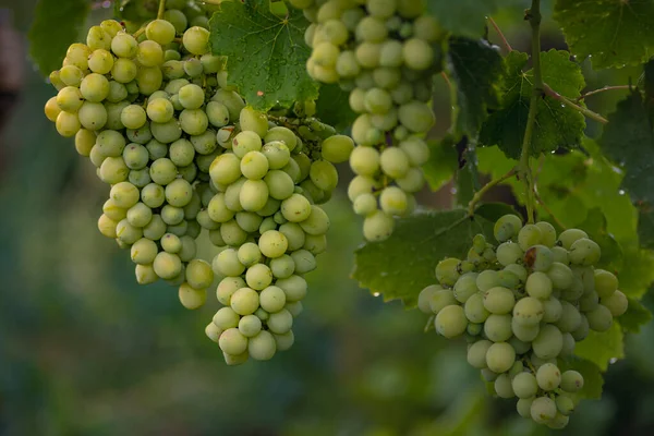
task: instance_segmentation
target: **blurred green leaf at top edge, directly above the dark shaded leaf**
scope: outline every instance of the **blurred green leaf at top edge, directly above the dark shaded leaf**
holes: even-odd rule
[[[512,3],[511,0],[459,0],[452,7],[450,0],[429,0],[427,9],[453,35],[477,38],[484,33],[486,16]]]

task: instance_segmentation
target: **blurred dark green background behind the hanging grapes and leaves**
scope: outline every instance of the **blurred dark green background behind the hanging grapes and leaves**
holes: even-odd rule
[[[138,287],[129,256],[98,233],[108,187],[43,114],[53,89],[26,55],[35,3],[0,0],[0,435],[654,434],[654,325],[627,337],[628,359],[610,365],[601,401],[584,401],[564,432],[536,427],[487,395],[463,342],[423,334],[422,314],[349,278],[362,238],[347,177],[328,206],[329,250],[308,276],[295,346],[226,366],[204,335],[217,303],[189,312],[177,290]],[[525,50],[523,3],[496,20]],[[98,8],[90,21],[108,14]],[[565,48],[549,20],[543,45]],[[584,68],[591,89],[640,75]],[[589,105],[606,113],[620,96]],[[435,135],[448,108],[439,84]],[[446,187],[421,202],[451,198]]]

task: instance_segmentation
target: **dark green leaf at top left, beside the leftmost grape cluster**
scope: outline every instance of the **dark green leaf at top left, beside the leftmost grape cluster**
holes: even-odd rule
[[[87,0],[39,0],[29,29],[29,56],[44,75],[59,70],[90,10]]]

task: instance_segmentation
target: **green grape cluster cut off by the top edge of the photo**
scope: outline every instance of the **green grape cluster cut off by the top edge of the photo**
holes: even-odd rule
[[[440,68],[443,33],[423,1],[290,0],[312,22],[308,74],[339,83],[359,113],[352,125],[356,177],[348,191],[365,217],[363,233],[382,241],[393,217],[415,205],[424,185],[421,166],[429,158],[424,140],[434,125],[429,107],[433,75]]]

